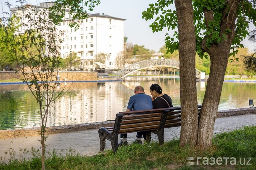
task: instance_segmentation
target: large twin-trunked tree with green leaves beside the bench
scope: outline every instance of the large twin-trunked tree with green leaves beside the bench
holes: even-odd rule
[[[173,37],[179,42],[167,35],[166,47],[171,53],[177,49],[180,53],[180,98],[184,120],[181,122],[180,144],[191,143],[199,149],[206,149],[212,146],[213,127],[229,57],[235,56],[238,48],[243,47],[241,41],[248,35],[249,23],[256,25],[256,1],[175,0],[176,11],[168,8],[173,3],[173,0],[158,0],[150,4],[143,12],[143,18],[149,20],[157,15],[150,25],[153,32],[162,31],[163,27],[178,27]],[[198,125],[193,51],[201,58],[210,57],[209,78]]]

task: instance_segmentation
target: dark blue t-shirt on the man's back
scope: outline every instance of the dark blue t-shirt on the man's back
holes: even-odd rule
[[[144,93],[138,93],[130,97],[127,108],[133,111],[152,109],[152,98]]]

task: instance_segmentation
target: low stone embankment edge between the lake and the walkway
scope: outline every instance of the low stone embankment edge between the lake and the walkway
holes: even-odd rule
[[[256,108],[238,108],[218,111],[216,117],[229,117],[238,116],[244,114],[256,114]],[[46,134],[56,134],[56,133],[68,133],[75,131],[84,131],[89,129],[99,129],[104,126],[113,126],[114,121],[107,122],[96,122],[96,123],[82,123],[76,125],[63,125],[63,126],[51,126],[46,129]],[[9,129],[0,130],[0,138],[12,138],[12,137],[26,137],[40,135],[40,127],[29,128],[29,129]]]

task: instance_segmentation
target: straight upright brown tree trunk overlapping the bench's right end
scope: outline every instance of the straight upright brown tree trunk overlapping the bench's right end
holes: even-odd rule
[[[195,79],[195,26],[191,0],[175,0],[180,58],[180,145],[197,143],[197,88]]]

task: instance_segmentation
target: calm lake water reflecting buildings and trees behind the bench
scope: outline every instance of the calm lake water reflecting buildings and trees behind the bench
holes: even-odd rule
[[[72,90],[53,104],[47,126],[114,120],[117,113],[126,110],[135,86],[143,86],[150,95],[153,83],[171,96],[174,107],[180,106],[179,78],[126,77],[122,81],[73,83]],[[205,88],[206,82],[197,82],[198,104],[203,102]],[[249,107],[248,99],[256,99],[255,89],[256,83],[224,82],[219,110]],[[38,127],[38,111],[25,84],[0,85],[0,129]]]

